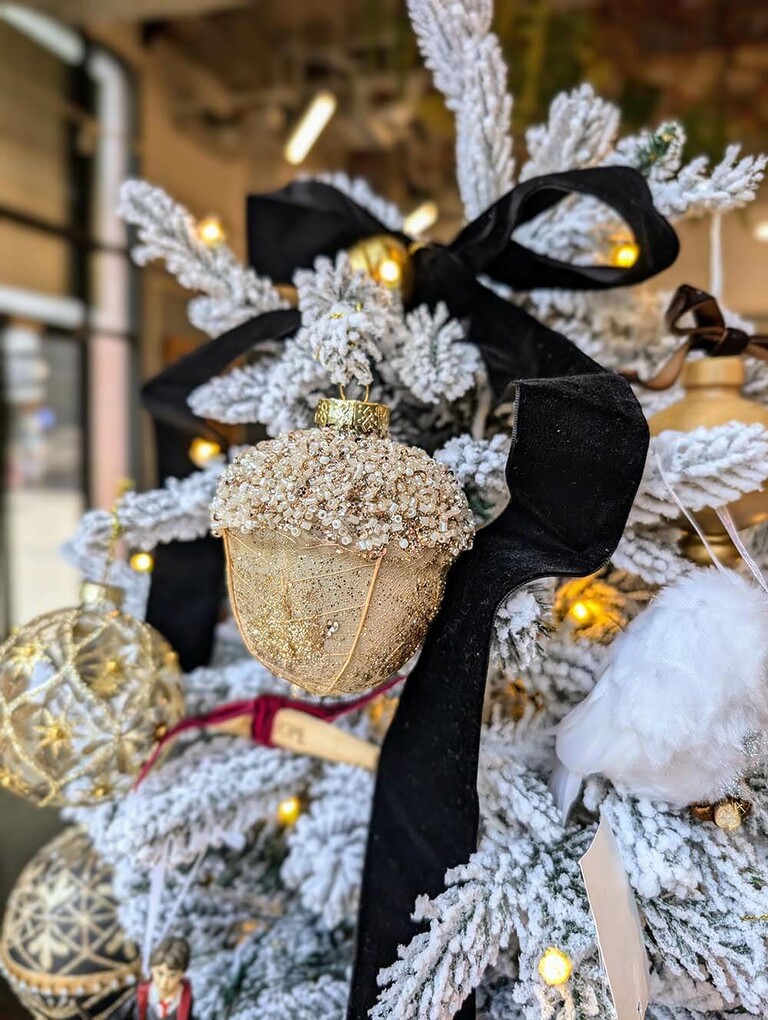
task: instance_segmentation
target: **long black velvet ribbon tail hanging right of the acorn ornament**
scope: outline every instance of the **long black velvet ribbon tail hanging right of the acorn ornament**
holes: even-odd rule
[[[493,311],[487,308],[485,317]],[[507,466],[510,500],[452,568],[383,744],[349,1020],[368,1016],[379,970],[420,930],[410,919],[416,897],[439,895],[446,871],[475,850],[477,760],[497,607],[530,580],[582,576],[605,563],[643,473],[648,426],[629,385],[524,312],[507,306],[506,313],[508,368],[510,362],[521,366]],[[459,1015],[474,1016],[471,996]]]

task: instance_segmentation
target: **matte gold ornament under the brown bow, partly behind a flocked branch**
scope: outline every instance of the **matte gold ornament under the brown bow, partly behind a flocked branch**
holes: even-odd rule
[[[650,419],[651,435],[658,436],[668,429],[688,432],[729,421],[758,422],[768,428],[768,407],[744,397],[744,384],[745,363],[740,356],[686,361],[682,369],[684,396]],[[728,511],[739,530],[768,520],[768,486],[729,503]],[[738,551],[714,509],[697,510],[695,516],[718,559],[730,566],[738,563]],[[683,530],[680,543],[683,554],[695,563],[709,566],[709,553],[688,522],[680,519],[676,525]]]

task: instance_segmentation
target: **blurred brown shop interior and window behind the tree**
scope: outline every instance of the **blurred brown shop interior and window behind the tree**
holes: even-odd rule
[[[621,107],[625,131],[682,119],[688,156],[768,148],[768,5],[496,8],[521,151],[552,97],[582,81]],[[287,141],[318,95],[332,116],[294,165]],[[124,477],[154,480],[140,381],[204,339],[189,294],[133,265],[120,183],[142,175],[217,217],[241,256],[249,192],[328,170],[366,176],[406,210],[430,203],[440,239],[460,225],[453,145],[405,0],[0,3],[0,634],[74,601],[58,549],[80,515],[110,506]],[[725,301],[765,327],[768,189],[728,217],[723,244]],[[660,286],[708,276],[709,224],[688,223]],[[56,824],[36,822],[39,840]],[[3,847],[0,886],[29,856]]]

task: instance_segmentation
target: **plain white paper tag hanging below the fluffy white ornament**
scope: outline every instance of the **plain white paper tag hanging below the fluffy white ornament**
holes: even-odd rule
[[[616,836],[605,818],[578,863],[617,1020],[643,1020],[649,1000],[643,925]]]

